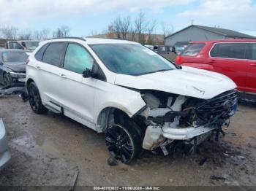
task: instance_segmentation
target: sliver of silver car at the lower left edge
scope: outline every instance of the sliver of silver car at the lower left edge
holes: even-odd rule
[[[0,171],[11,159],[11,154],[7,144],[7,136],[4,128],[4,122],[0,118]]]

